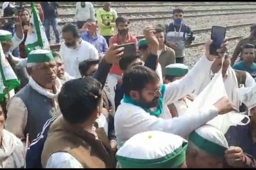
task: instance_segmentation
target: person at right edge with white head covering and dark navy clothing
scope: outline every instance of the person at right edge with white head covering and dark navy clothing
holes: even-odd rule
[[[230,145],[241,147],[246,153],[256,158],[256,85],[237,91],[239,99],[248,108],[250,123],[244,126],[231,126],[225,136]],[[242,120],[242,122],[248,120]]]

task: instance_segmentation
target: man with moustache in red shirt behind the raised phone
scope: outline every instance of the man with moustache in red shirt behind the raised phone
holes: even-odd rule
[[[126,43],[135,43],[135,46],[138,50],[138,40],[136,37],[130,35],[129,31],[129,20],[125,17],[116,18],[116,28],[118,33],[109,39],[109,45],[116,43],[118,45]],[[117,80],[121,79],[122,71],[120,69],[119,63],[115,63],[109,74],[108,74],[108,83],[110,88],[110,93],[112,96],[115,96],[114,87],[117,83]]]

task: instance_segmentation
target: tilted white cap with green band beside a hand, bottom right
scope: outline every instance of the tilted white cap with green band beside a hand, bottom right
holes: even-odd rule
[[[229,148],[224,134],[218,128],[207,124],[190,133],[188,140],[199,149],[217,157],[224,157],[225,150]]]

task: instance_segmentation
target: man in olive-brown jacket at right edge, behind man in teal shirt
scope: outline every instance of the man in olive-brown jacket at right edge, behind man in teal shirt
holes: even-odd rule
[[[240,57],[240,61],[243,60],[242,49],[246,44],[249,43],[249,44],[256,45],[256,24],[251,25],[250,28],[251,28],[251,30],[250,30],[251,35],[248,38],[240,40],[238,42],[238,44],[234,50],[233,56],[231,58],[231,66],[234,65],[238,56]],[[256,63],[256,59],[254,59],[254,62]]]

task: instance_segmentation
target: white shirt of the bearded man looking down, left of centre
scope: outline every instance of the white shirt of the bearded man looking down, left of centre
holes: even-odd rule
[[[75,78],[81,78],[78,69],[79,62],[89,58],[98,59],[99,54],[92,44],[82,40],[75,49],[68,48],[63,42],[60,46],[60,57],[64,63],[65,71]]]

